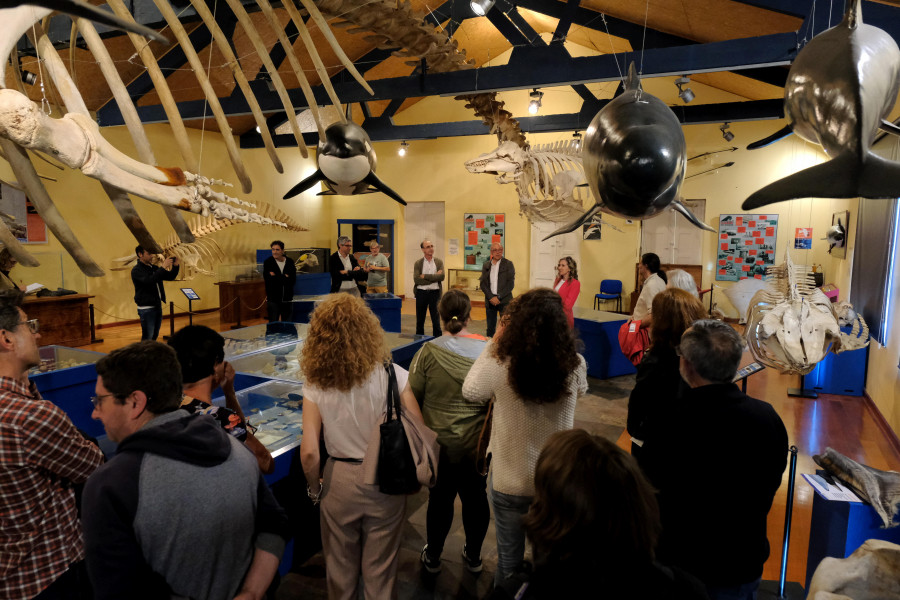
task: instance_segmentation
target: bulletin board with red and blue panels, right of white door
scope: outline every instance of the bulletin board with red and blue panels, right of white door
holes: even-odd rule
[[[778,215],[719,215],[716,281],[765,279],[777,235]]]

